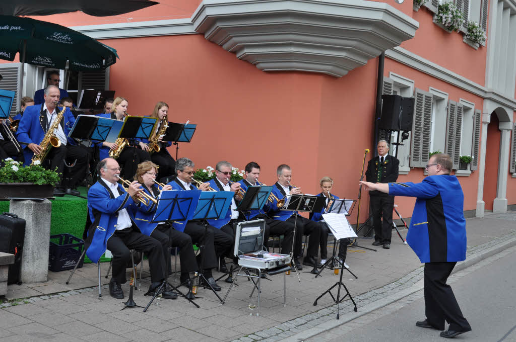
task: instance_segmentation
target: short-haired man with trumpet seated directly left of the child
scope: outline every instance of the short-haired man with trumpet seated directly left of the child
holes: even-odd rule
[[[281,164],[280,166],[278,166],[276,174],[278,176],[278,181],[272,187],[272,193],[277,198],[284,198],[287,195],[301,194],[301,188],[294,187],[291,184],[292,169],[290,166],[286,164]],[[298,258],[302,257],[301,246],[303,235],[310,236],[307,249],[307,256],[303,259],[303,265],[316,266],[315,258],[317,257],[317,250],[319,249],[320,224],[299,215],[297,212],[279,210],[279,208],[275,206],[271,206],[271,210],[268,214],[271,218],[275,218],[296,225],[293,255],[295,265],[298,269],[302,268]]]

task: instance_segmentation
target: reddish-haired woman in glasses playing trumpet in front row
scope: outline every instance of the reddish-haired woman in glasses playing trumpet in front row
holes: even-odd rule
[[[143,190],[157,199],[162,191],[172,190],[172,186],[165,185],[159,189],[156,183],[157,165],[151,161],[145,161],[138,164],[136,175],[134,179],[142,184]],[[138,212],[138,217],[150,221],[156,212],[156,206],[152,201],[149,201],[149,205],[146,206],[146,212]],[[199,269],[197,261],[195,259],[195,252],[192,247],[192,239],[190,235],[180,232],[179,230],[173,229],[171,225],[165,222],[160,222],[157,225],[151,225],[151,230],[143,231],[143,234],[149,235],[159,242],[162,243],[163,254],[165,257],[164,265],[167,265],[167,258],[170,258],[168,253],[168,244],[170,247],[178,247],[181,255],[181,277],[184,279],[189,278],[188,273],[197,271]],[[170,236],[170,241],[169,241]],[[169,264],[168,269],[169,275],[172,274],[172,266]]]

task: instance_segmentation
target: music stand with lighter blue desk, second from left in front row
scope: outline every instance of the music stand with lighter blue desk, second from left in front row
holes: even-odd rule
[[[197,208],[195,213],[193,213],[192,219],[197,219],[202,222],[204,225],[204,233],[208,230],[207,219],[223,219],[225,214],[228,212],[229,207],[231,206],[231,201],[233,199],[234,193],[231,191],[203,191],[201,192],[201,196],[199,198],[199,202],[197,203]],[[204,246],[201,246],[201,253]],[[199,280],[204,280],[204,284],[207,284],[212,292],[217,296],[217,298],[222,303],[222,298],[217,294],[215,289],[208,283],[208,280],[203,274],[204,268],[204,255],[201,256],[201,265],[199,266],[199,272],[197,272],[193,278],[191,279],[191,284],[197,278]],[[193,285],[191,285],[193,286]],[[202,285],[206,287],[205,285]]]

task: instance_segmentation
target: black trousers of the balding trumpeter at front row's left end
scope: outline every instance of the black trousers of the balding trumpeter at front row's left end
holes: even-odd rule
[[[165,279],[162,243],[155,238],[143,235],[131,227],[116,230],[107,241],[107,249],[113,254],[112,279],[120,284],[126,281],[125,265],[131,260],[130,249],[136,249],[148,255],[152,282]]]

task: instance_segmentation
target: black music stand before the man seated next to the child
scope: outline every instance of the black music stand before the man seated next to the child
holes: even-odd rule
[[[297,278],[299,282],[301,282],[301,278],[299,277],[299,272],[296,268],[295,257],[294,257],[294,243],[296,241],[296,230],[297,230],[297,213],[308,212],[308,213],[318,213],[324,208],[326,202],[326,197],[322,196],[314,196],[314,195],[288,195],[287,201],[285,202],[285,206],[280,208],[280,210],[284,211],[293,211],[296,218],[294,220],[294,239],[292,241],[292,249],[291,249],[291,260],[292,266],[294,266],[294,270],[296,271]],[[317,259],[317,258],[316,258]],[[317,260],[315,261],[314,268],[310,271],[310,273],[317,273]]]

